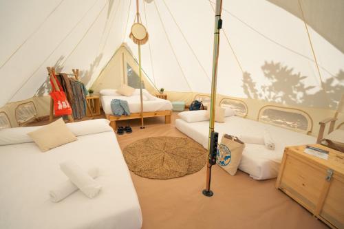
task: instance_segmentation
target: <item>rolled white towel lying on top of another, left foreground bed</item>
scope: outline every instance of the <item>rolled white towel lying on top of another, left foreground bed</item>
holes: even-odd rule
[[[96,180],[90,177],[78,164],[72,160],[62,162],[60,164],[61,171],[67,175],[71,182],[73,182],[87,197],[93,198],[100,192],[102,188]]]

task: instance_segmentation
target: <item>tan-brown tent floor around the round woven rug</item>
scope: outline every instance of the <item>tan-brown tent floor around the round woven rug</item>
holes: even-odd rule
[[[101,118],[103,116],[98,116]],[[151,136],[186,137],[164,118],[131,120],[133,133],[117,135],[120,147]],[[127,121],[118,126],[127,126]],[[230,176],[213,166],[213,197],[202,195],[206,168],[175,179],[147,179],[131,173],[142,209],[143,229],[164,228],[327,228],[310,212],[275,188],[275,179],[256,181],[238,171]],[[116,203],[114,203],[116,204]]]

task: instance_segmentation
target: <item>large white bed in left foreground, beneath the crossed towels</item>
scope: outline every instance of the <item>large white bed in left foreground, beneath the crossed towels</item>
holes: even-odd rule
[[[109,122],[102,122],[103,131],[72,130],[77,141],[45,153],[34,142],[0,146],[0,228],[141,228],[127,164]],[[50,201],[49,190],[67,179],[59,163],[69,159],[85,169],[98,166],[103,188],[94,199],[78,190],[61,202]]]

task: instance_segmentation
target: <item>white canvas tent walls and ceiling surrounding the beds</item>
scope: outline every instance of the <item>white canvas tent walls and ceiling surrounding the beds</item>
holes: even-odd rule
[[[251,119],[264,105],[303,109],[312,117],[315,135],[316,123],[333,116],[344,93],[344,2],[223,3],[217,100],[240,98]],[[22,102],[32,100],[39,116],[48,114],[47,66],[58,72],[79,68],[81,80],[96,91],[126,83],[126,63],[138,72],[136,45],[129,39],[134,1],[0,4],[0,111],[12,127],[17,125],[14,110]],[[154,87],[164,87],[170,100],[186,102],[208,94],[215,1],[140,4],[149,31],[149,42],[142,45],[147,89],[155,93]]]

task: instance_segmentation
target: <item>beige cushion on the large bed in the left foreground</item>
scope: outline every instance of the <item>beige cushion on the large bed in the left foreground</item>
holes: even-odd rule
[[[72,131],[69,131],[62,118],[28,133],[28,135],[42,152],[78,140]]]

